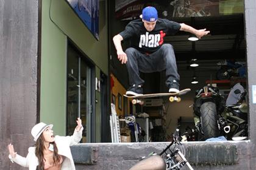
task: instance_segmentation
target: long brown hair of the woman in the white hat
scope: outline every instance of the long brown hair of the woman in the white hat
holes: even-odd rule
[[[40,137],[37,139],[37,142],[35,143],[35,155],[38,158],[38,170],[44,170],[44,155],[43,155],[43,150],[44,150],[44,137],[43,133],[40,135]],[[58,154],[58,148],[55,144],[55,142],[52,142],[50,144],[54,145],[54,155],[53,155],[53,160],[54,160],[54,165],[57,165],[60,162],[60,155]],[[45,148],[46,149],[46,148]]]

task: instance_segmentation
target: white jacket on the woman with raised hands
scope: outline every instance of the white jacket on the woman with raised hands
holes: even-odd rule
[[[58,148],[58,154],[63,155],[65,157],[62,163],[62,170],[76,169],[74,166],[74,161],[69,146],[79,143],[79,141],[82,138],[83,129],[84,128],[81,127],[79,132],[74,131],[74,134],[72,136],[55,136],[55,143]],[[18,163],[18,165],[28,167],[29,170],[37,169],[38,159],[35,155],[35,147],[29,147],[29,153],[27,154],[26,158],[21,157],[21,155],[18,154],[16,154],[15,158],[12,158],[11,155],[9,155],[9,158],[12,162],[15,161],[15,163]]]

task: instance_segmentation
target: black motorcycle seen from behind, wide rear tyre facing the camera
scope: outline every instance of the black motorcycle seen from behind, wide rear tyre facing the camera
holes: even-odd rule
[[[224,110],[224,97],[219,94],[217,87],[205,86],[196,91],[194,98],[194,114],[200,118],[196,123],[197,130],[204,135],[204,138],[219,137],[222,123],[221,113]]]

